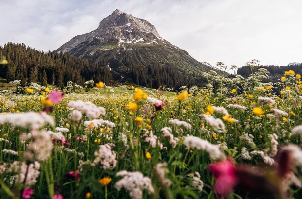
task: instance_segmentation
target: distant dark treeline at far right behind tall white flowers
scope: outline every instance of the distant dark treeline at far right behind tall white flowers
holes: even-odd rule
[[[302,74],[302,64],[297,65],[290,65],[290,66],[258,66],[258,67],[250,67],[250,66],[243,66],[237,70],[237,74],[243,76],[244,78],[248,77],[252,71],[255,72],[258,70],[258,68],[265,68],[270,72],[270,76],[276,76],[276,75],[283,75],[285,71],[293,70],[295,73]]]

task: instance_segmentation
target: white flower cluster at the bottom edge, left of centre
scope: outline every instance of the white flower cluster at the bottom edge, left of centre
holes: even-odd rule
[[[144,189],[147,189],[149,194],[154,193],[151,179],[144,177],[144,175],[139,171],[129,172],[122,170],[117,172],[116,176],[121,176],[123,178],[117,181],[114,184],[114,187],[118,191],[124,188],[132,197],[132,199],[142,199]]]

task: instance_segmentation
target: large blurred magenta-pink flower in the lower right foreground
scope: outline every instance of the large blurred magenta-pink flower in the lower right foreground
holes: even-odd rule
[[[214,190],[218,194],[225,195],[236,185],[236,168],[230,160],[224,160],[219,163],[211,164],[209,169],[216,178]]]

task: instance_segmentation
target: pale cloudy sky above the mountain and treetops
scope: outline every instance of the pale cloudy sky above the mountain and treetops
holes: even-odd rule
[[[302,0],[0,0],[0,44],[55,50],[115,9],[212,65],[302,62]]]

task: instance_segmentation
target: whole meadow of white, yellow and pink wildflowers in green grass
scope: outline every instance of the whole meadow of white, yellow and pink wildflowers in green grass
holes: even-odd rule
[[[267,74],[210,71],[206,87],[174,93],[102,82],[3,91],[0,196],[301,198],[301,76]]]

